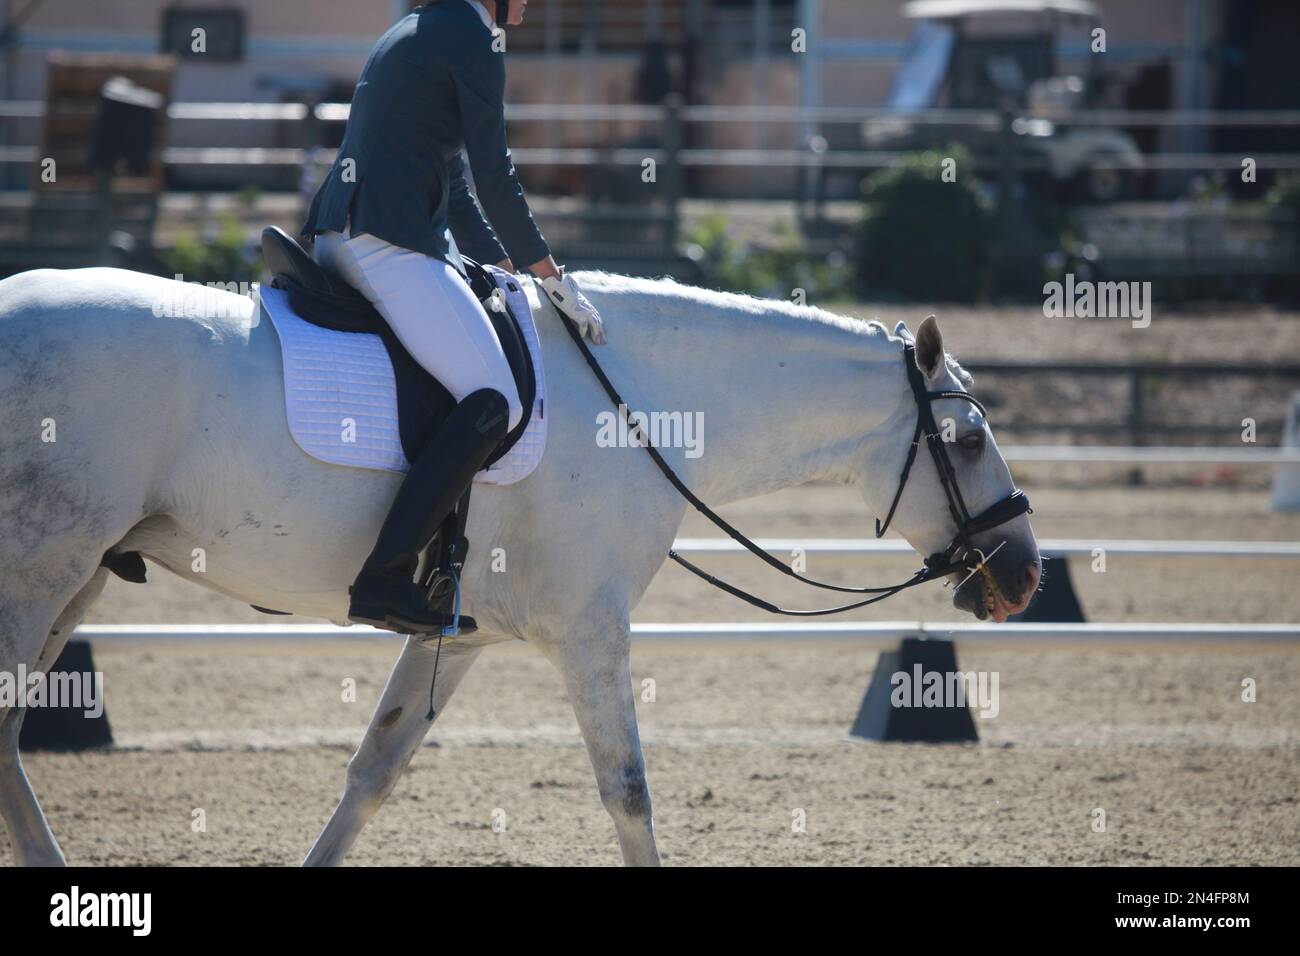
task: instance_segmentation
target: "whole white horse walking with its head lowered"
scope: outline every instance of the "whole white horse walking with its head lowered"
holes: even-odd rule
[[[812,480],[854,483],[889,506],[916,406],[900,324],[836,317],[671,281],[585,273],[606,316],[597,355],[629,407],[701,412],[705,454],[662,451],[706,502]],[[0,671],[42,670],[104,587],[107,551],[152,562],[248,604],[346,623],[347,588],[399,477],[330,466],[290,438],[280,343],[257,303],[211,291],[207,317],[168,317],[170,280],[116,269],[36,271],[0,282]],[[481,631],[442,648],[436,713],[485,644],[530,641],[563,675],[628,864],[656,864],[637,734],[629,618],[676,536],[685,502],[640,447],[602,447],[610,402],[560,326],[538,311],[550,438],[526,480],[473,496],[465,611]],[[545,302],[542,297],[541,302]],[[933,389],[968,376],[939,326],[918,330]],[[978,410],[944,399],[971,511],[1011,476]],[[919,455],[894,524],[922,554],[954,535],[937,470]],[[954,604],[1005,619],[1039,579],[1027,516],[978,536],[996,550]],[[490,567],[494,549],[504,572]],[[191,570],[195,549],[205,568]],[[959,579],[954,575],[953,583]],[[905,598],[897,598],[905,600]],[[337,864],[429,731],[434,646],[408,640],[343,796],[307,856]],[[0,710],[0,817],[21,864],[61,864],[18,757],[23,710]]]

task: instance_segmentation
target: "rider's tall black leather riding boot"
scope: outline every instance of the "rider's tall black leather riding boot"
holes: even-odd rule
[[[380,540],[348,591],[350,620],[402,633],[433,633],[451,623],[415,583],[416,567],[508,424],[510,406],[495,389],[480,389],[451,410],[411,463]]]

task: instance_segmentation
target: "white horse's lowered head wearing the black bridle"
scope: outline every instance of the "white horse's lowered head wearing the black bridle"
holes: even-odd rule
[[[904,346],[914,346],[915,371],[905,375],[904,363],[898,363],[898,410],[867,436],[863,497],[923,555],[946,553],[954,559],[948,563],[965,562],[946,575],[956,588],[953,605],[982,620],[1006,620],[1028,606],[1043,568],[1034,529],[1023,512],[1026,505],[1022,497],[1013,497],[1011,472],[982,408],[958,397],[922,398],[927,393],[968,392],[971,384],[970,375],[944,354],[939,323],[933,316],[926,319],[915,339],[902,323],[894,334]],[[933,412],[936,437],[927,440],[922,434],[911,467],[905,471],[918,415],[924,421],[926,405]],[[928,428],[922,431],[930,433]],[[940,454],[931,453],[930,442],[940,442]],[[941,475],[945,458],[952,468],[946,488]]]

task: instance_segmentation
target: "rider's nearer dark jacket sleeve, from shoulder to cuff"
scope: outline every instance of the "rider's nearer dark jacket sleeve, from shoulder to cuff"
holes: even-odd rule
[[[542,263],[551,250],[542,238],[506,142],[506,66],[500,53],[484,47],[482,61],[454,70],[465,152],[474,191],[497,238],[516,263]]]

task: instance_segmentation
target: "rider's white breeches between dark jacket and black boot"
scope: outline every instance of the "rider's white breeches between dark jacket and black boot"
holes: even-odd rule
[[[497,389],[510,405],[510,428],[524,418],[500,339],[469,285],[441,259],[363,233],[321,233],[316,261],[369,299],[394,334],[458,402]]]

